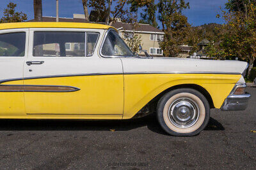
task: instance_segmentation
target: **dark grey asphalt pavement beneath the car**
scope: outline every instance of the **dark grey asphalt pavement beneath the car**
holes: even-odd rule
[[[193,137],[156,116],[122,121],[0,120],[1,169],[256,169],[256,88],[245,111],[211,110]]]

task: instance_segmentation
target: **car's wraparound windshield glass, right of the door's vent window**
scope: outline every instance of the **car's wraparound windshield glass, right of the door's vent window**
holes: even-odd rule
[[[115,31],[109,31],[102,46],[101,54],[104,56],[132,57],[134,54],[122,38]]]

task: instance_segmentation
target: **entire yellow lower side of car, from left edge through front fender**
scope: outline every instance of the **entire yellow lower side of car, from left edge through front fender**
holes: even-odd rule
[[[0,92],[0,118],[127,119],[159,93],[180,84],[204,87],[211,95],[214,106],[220,108],[239,78],[241,75],[230,74],[125,74],[24,80],[24,85],[67,85],[81,90]],[[3,84],[22,83],[23,80]],[[55,115],[43,115],[45,113]]]

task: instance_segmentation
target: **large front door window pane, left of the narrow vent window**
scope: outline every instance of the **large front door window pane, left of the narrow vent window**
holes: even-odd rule
[[[85,32],[34,32],[34,57],[84,57]]]

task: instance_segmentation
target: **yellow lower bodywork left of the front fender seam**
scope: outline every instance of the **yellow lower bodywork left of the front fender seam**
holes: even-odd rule
[[[7,81],[1,85],[21,84],[23,84],[22,80]],[[36,78],[24,80],[24,85],[68,85],[80,90],[76,92],[0,92],[0,117],[8,116],[10,113],[15,113],[17,118],[24,115],[24,103],[28,115],[52,114],[54,118],[64,118],[62,115],[72,114],[92,115],[87,118],[98,118],[93,115],[99,115],[99,118],[113,118],[113,115],[119,115],[116,118],[122,118],[123,115],[124,78],[122,74]],[[26,118],[29,118],[28,115]]]

